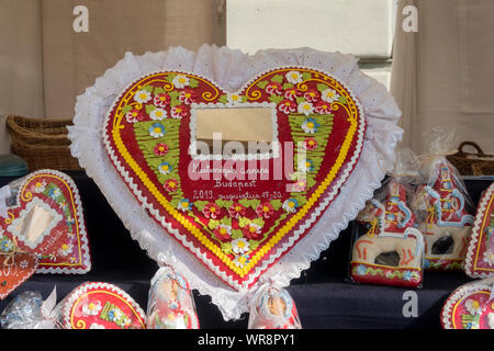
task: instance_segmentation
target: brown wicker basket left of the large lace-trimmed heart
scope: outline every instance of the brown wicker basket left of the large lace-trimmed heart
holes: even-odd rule
[[[7,129],[12,139],[12,152],[27,162],[30,171],[42,168],[81,170],[78,160],[70,155],[67,125],[71,123],[71,120],[9,115]]]

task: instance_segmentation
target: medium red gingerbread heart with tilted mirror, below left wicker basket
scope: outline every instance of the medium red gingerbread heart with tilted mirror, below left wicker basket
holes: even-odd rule
[[[38,258],[37,273],[86,273],[91,269],[82,204],[74,181],[38,170],[9,184],[7,218],[0,231]]]

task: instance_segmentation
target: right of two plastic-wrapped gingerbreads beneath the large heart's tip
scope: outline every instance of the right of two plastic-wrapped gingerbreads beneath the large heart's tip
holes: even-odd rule
[[[284,288],[260,287],[250,304],[249,329],[302,329],[295,302]]]

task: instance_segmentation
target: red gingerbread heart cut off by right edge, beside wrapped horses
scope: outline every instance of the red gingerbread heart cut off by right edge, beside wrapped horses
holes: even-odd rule
[[[474,278],[494,275],[494,183],[479,202],[464,271]]]

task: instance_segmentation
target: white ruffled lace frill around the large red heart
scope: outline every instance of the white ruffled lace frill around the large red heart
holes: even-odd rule
[[[329,247],[340,230],[348,226],[384,178],[395,158],[395,146],[403,129],[396,124],[401,112],[386,88],[363,75],[358,59],[340,53],[311,48],[267,49],[255,55],[227,47],[203,45],[198,52],[171,47],[167,52],[136,56],[126,53],[113,68],[96,80],[94,86],[77,98],[74,126],[69,127],[70,148],[120,216],[132,237],[155,260],[172,264],[201,294],[210,295],[225,320],[238,319],[248,312],[256,290],[268,282],[280,287],[299,278],[319,253]],[[340,194],[322,218],[292,250],[266,271],[248,291],[235,291],[212,274],[195,257],[180,246],[150,218],[127,189],[110,162],[103,145],[102,126],[113,100],[132,81],[159,70],[181,70],[206,77],[226,90],[237,91],[261,71],[279,66],[305,66],[321,69],[348,87],[363,107],[367,118],[363,149],[353,172],[341,186]]]

